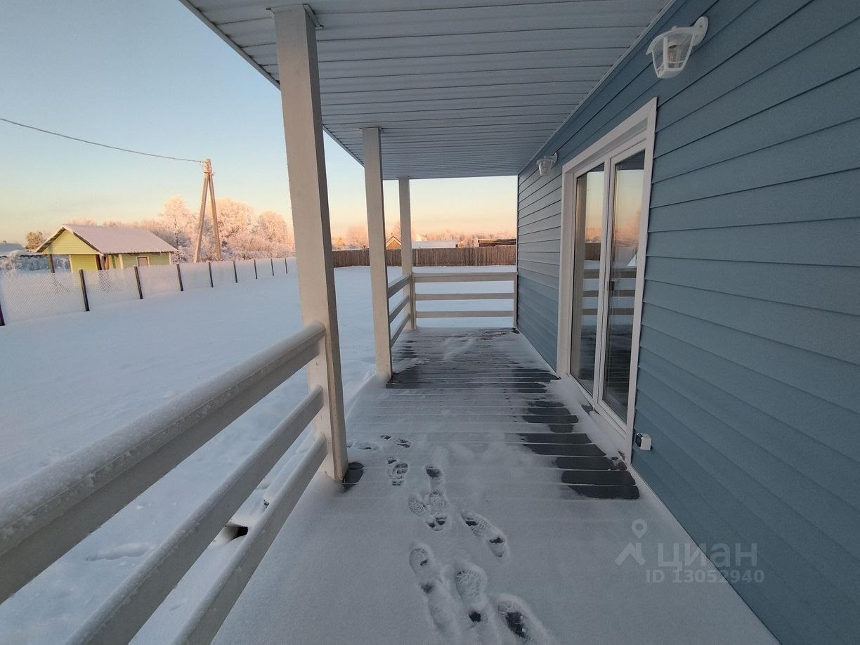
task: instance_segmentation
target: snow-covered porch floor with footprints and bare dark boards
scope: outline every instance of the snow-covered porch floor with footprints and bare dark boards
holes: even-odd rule
[[[772,642],[520,335],[395,359],[349,411],[353,483],[316,476],[218,642]]]

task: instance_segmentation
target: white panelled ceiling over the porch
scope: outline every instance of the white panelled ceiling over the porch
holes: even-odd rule
[[[278,85],[274,21],[295,0],[181,0]],[[326,130],[385,179],[516,175],[667,0],[311,0]]]

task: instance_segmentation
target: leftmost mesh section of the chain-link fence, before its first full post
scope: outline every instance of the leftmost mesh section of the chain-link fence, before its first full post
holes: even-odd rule
[[[0,277],[3,322],[83,311],[77,273],[12,273]]]

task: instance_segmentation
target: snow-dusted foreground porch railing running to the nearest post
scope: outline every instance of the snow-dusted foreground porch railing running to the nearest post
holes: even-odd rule
[[[312,322],[175,402],[3,489],[0,602],[175,468],[310,361],[324,360],[325,328]],[[74,642],[128,642],[212,542],[243,501],[326,406],[316,386],[181,527],[90,615]],[[326,419],[322,427],[335,427]],[[342,437],[332,437],[332,444]],[[292,475],[249,527],[230,568],[186,626],[184,639],[208,642],[261,562],[279,528],[326,457],[317,432]]]

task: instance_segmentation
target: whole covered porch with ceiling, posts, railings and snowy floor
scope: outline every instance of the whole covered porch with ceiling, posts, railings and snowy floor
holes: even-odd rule
[[[305,327],[133,436],[58,464],[45,486],[18,487],[0,507],[0,566],[12,572],[0,599],[306,366],[304,400],[76,640],[143,629],[147,642],[772,642],[631,470],[630,437],[558,387],[519,335],[517,274],[411,266],[410,180],[518,174],[666,3],[182,2],[279,87]],[[348,404],[324,131],[365,169],[378,379]],[[400,186],[393,279],[385,179]],[[503,297],[418,287],[502,280],[513,282]],[[421,310],[446,299],[504,300],[513,306],[470,313],[513,327],[422,328],[421,317],[460,316]],[[231,543],[222,570],[170,618],[170,594],[216,536]]]

